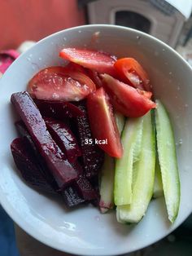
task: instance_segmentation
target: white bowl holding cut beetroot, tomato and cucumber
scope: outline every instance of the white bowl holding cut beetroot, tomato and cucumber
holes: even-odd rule
[[[93,37],[95,32],[97,37]],[[77,46],[136,58],[151,77],[155,96],[168,108],[175,131],[181,177],[181,206],[176,222],[168,222],[164,199],[151,201],[146,216],[134,226],[116,222],[115,212],[100,214],[89,206],[65,210],[63,201],[29,188],[16,171],[10,143],[16,137],[13,92],[25,90],[41,68],[63,64],[59,51]],[[116,255],[141,249],[168,235],[192,211],[192,73],[172,48],[145,33],[113,25],[67,29],[37,42],[20,55],[0,81],[0,198],[2,207],[25,232],[71,254]]]

